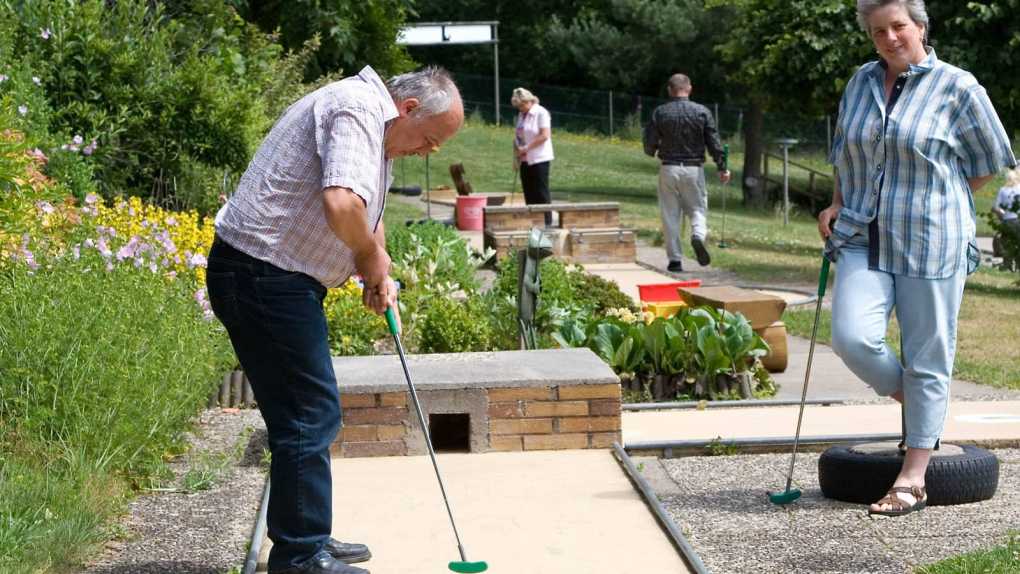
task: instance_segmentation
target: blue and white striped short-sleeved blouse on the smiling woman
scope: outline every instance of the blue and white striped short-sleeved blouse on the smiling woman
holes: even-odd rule
[[[839,103],[829,162],[844,207],[826,255],[870,234],[872,269],[932,279],[961,265],[973,272],[980,258],[967,179],[1016,165],[1006,131],[977,80],[930,48],[900,76],[888,113],[884,74],[882,62],[864,64]]]

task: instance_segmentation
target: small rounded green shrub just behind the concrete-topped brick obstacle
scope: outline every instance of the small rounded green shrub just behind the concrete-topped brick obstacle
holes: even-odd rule
[[[467,353],[489,351],[491,334],[488,311],[480,300],[457,301],[439,298],[432,301],[421,319],[421,353]]]

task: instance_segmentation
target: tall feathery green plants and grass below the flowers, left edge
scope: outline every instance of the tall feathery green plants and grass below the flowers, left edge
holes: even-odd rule
[[[234,363],[185,281],[40,263],[0,268],[0,571],[69,570],[105,540]]]

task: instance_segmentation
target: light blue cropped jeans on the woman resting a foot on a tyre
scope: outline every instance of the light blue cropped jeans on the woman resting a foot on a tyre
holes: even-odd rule
[[[966,266],[946,279],[872,271],[867,245],[853,240],[839,249],[836,264],[832,350],[878,395],[902,390],[907,447],[933,448],[949,410]],[[903,363],[885,341],[894,310]]]

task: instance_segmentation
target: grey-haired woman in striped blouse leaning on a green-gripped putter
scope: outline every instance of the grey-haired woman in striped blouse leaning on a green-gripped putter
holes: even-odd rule
[[[838,265],[832,348],[904,405],[903,467],[869,509],[900,516],[924,508],[945,427],[957,316],[979,261],[972,193],[1016,159],[985,90],[926,45],[923,0],[858,0],[857,17],[879,59],[843,95],[829,157],[836,187],[818,228]],[[902,362],[885,341],[894,310]]]

